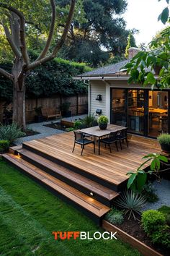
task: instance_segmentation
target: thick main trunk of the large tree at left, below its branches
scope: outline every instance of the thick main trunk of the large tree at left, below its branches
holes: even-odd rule
[[[19,78],[19,74],[22,70],[22,60],[15,59],[14,65],[12,68],[12,74],[14,75],[13,82],[13,117],[12,120],[17,122],[19,127],[22,127],[23,130],[26,129],[25,122],[25,85],[24,78],[25,75],[22,74],[22,77]]]

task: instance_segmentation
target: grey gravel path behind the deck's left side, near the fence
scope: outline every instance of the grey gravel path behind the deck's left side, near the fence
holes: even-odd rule
[[[84,119],[86,115],[81,115],[81,116],[72,116],[72,117],[68,117],[68,118],[64,118],[63,120],[67,120],[67,121],[75,121],[75,119]],[[51,120],[51,121],[55,121],[55,120]],[[29,140],[36,140],[36,139],[40,139],[43,137],[48,137],[51,135],[57,135],[59,133],[63,133],[63,131],[61,131],[60,129],[53,129],[50,127],[45,127],[45,124],[50,124],[51,121],[43,121],[42,123],[34,123],[34,124],[28,124],[27,128],[28,129],[32,129],[33,131],[39,132],[38,135],[32,135],[32,136],[27,136],[27,137],[21,137],[18,140],[16,140],[14,142],[14,144],[19,145],[22,144],[22,142],[25,141],[29,141]],[[60,121],[60,120],[58,120]]]

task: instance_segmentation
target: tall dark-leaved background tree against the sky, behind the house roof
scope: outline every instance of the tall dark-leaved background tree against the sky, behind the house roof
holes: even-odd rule
[[[56,3],[63,13],[66,12],[68,0],[56,0]],[[97,67],[110,55],[125,54],[129,30],[125,29],[125,20],[120,15],[125,12],[127,1],[83,0],[81,7],[84,17],[81,20],[73,18],[61,56]],[[135,46],[134,32],[132,30],[131,46]]]

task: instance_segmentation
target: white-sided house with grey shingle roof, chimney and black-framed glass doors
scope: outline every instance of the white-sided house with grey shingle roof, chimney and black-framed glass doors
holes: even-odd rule
[[[130,59],[138,51],[138,48],[130,48]],[[128,132],[145,137],[170,132],[170,90],[129,85],[126,69],[122,69],[128,61],[74,77],[89,82],[89,114],[107,115],[111,124],[125,125]]]

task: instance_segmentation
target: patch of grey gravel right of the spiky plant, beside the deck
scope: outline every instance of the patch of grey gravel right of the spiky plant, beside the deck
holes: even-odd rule
[[[153,182],[153,186],[156,189],[156,194],[158,195],[158,202],[147,203],[143,210],[157,210],[161,206],[170,206],[170,181],[162,179],[161,182]]]

